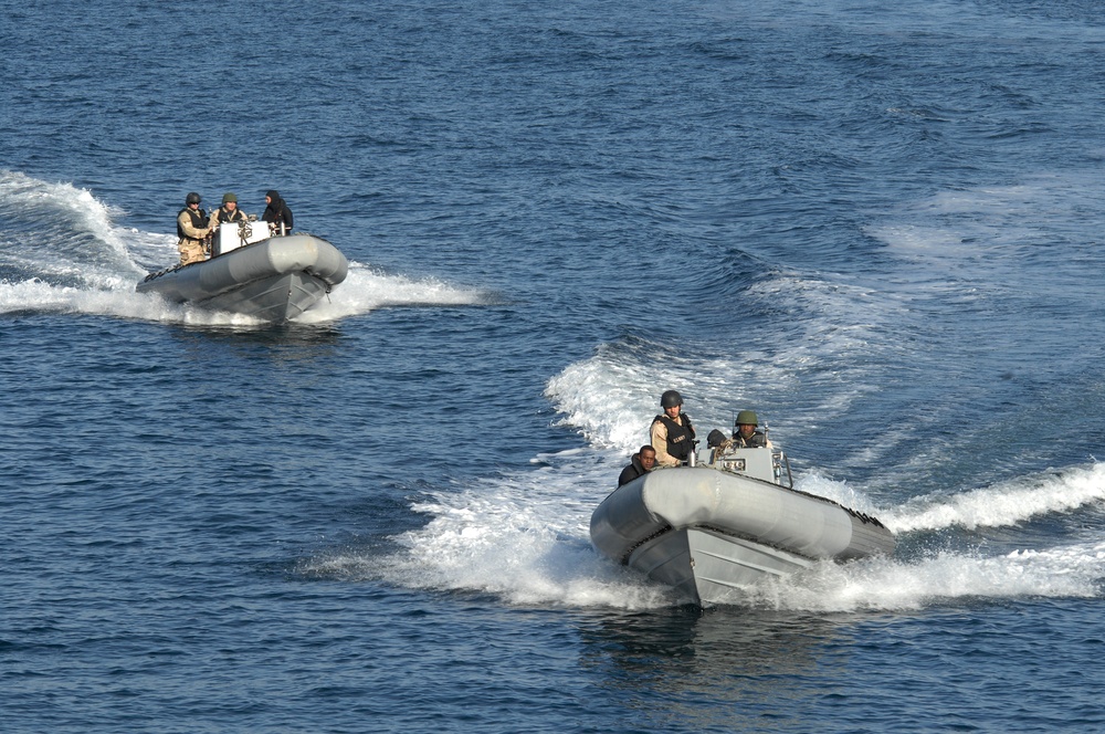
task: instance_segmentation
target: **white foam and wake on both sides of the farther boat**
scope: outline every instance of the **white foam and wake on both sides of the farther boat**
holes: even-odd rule
[[[119,227],[123,212],[90,191],[0,170],[0,314],[74,313],[154,322],[251,325],[256,321],[170,304],[135,292],[149,269],[177,261],[172,233]],[[347,280],[301,316],[320,323],[387,306],[477,305],[491,296],[435,279],[382,274],[351,262]]]

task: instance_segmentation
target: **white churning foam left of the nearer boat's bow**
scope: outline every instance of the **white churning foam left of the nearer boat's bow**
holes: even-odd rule
[[[609,474],[615,470],[607,458],[585,453],[543,457],[545,465],[534,471],[433,492],[413,506],[429,517],[427,525],[393,538],[401,550],[382,558],[348,550],[325,554],[302,570],[382,579],[404,588],[494,594],[523,606],[641,609],[672,604],[666,589],[591,549],[591,508],[609,490]],[[594,464],[594,479],[580,478],[571,468],[580,461]]]

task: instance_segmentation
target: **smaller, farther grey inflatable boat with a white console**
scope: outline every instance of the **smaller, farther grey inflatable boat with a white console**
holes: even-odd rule
[[[271,237],[264,222],[223,224],[212,250],[210,260],[148,275],[137,291],[278,323],[315,305],[345,280],[349,266],[326,240],[312,234]]]

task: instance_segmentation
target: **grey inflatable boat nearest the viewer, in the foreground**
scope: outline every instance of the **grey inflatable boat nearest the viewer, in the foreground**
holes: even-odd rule
[[[781,451],[719,447],[692,459],[618,487],[591,515],[600,554],[685,601],[737,604],[767,577],[894,552],[876,518],[794,490]]]

